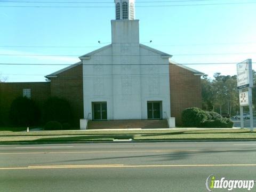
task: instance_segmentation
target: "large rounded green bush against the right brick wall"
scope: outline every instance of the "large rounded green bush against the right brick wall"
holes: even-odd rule
[[[186,127],[198,127],[207,120],[205,111],[197,107],[183,110],[181,118],[183,126]]]

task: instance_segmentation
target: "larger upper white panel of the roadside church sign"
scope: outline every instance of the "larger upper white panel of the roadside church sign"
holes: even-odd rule
[[[237,64],[237,88],[252,87],[252,66],[249,60]]]

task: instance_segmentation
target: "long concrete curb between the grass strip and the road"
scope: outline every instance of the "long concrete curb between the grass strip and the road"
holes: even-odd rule
[[[177,139],[177,140],[131,140],[131,141],[26,141],[26,142],[0,142],[0,145],[43,145],[43,144],[93,144],[93,143],[161,143],[161,142],[169,142],[169,143],[178,143],[178,142],[256,142],[256,139],[191,139],[191,140],[183,140],[183,139]]]

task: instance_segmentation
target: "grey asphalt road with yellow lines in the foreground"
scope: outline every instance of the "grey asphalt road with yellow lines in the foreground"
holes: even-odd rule
[[[201,192],[211,174],[256,180],[256,142],[0,146],[1,192]]]

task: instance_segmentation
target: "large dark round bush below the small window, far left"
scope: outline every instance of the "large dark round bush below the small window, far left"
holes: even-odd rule
[[[33,126],[39,123],[40,111],[33,100],[18,97],[11,104],[9,118],[14,126]]]

